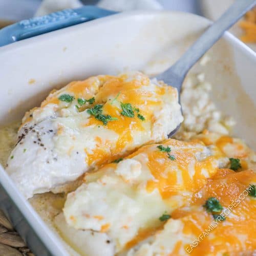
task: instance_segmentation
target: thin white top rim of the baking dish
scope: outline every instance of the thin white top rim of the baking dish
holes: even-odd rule
[[[75,31],[76,29],[82,28],[83,26],[97,26],[98,24],[102,24],[108,22],[109,20],[118,20],[123,17],[133,17],[138,15],[155,15],[156,13],[161,14],[182,14],[189,15],[191,18],[201,18],[204,19],[210,24],[210,20],[204,17],[201,17],[196,14],[184,13],[178,11],[131,11],[126,13],[118,13],[108,17],[92,20],[87,23],[78,24],[72,27],[60,29],[58,31],[49,32],[47,34],[38,35],[32,38],[24,39],[21,41],[14,42],[13,44],[6,45],[0,48],[0,54],[6,53],[9,51],[13,51],[17,48],[30,47],[31,45],[36,44],[38,40],[48,40],[52,35],[58,35],[61,33],[69,33],[71,31]],[[232,41],[237,47],[243,49],[243,53],[250,55],[256,64],[256,53],[253,52],[248,46],[246,46],[242,41],[240,41],[237,37],[230,34],[229,32],[225,32],[223,37],[227,40],[228,44]],[[0,165],[0,181],[5,189],[8,196],[11,198],[13,203],[17,206],[24,219],[28,222],[29,226],[34,230],[38,239],[49,249],[49,252],[53,255],[69,255],[66,250],[62,247],[61,243],[58,241],[58,238],[55,234],[47,227],[44,221],[39,217],[37,212],[33,209],[33,207],[29,204],[29,202],[19,193],[14,183],[11,181],[9,176],[6,174],[4,167]],[[2,197],[2,196],[1,196]],[[47,254],[48,255],[48,254]],[[49,254],[50,255],[50,254]]]

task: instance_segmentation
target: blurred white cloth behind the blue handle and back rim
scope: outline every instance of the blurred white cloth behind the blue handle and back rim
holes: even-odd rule
[[[44,0],[36,11],[35,16],[43,16],[51,12],[67,8],[79,8],[81,6],[82,3],[79,0]],[[97,6],[113,11],[162,9],[157,0],[101,0]]]

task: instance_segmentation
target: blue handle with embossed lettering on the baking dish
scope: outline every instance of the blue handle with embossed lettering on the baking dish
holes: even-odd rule
[[[0,30],[0,46],[115,13],[95,6],[83,6],[25,19]]]

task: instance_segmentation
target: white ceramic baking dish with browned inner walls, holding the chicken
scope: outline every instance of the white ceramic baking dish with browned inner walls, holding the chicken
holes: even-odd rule
[[[210,24],[188,13],[115,14],[0,48],[0,122],[21,119],[50,90],[96,74],[163,71]],[[237,121],[234,134],[256,149],[256,55],[231,34],[209,51],[204,72],[219,109]],[[33,82],[31,82],[33,81]],[[68,255],[0,166],[0,206],[37,255]],[[11,200],[8,199],[10,196]]]

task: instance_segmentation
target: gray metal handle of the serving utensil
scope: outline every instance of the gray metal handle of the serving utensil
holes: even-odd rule
[[[171,72],[177,77],[184,78],[190,68],[220,39],[222,34],[255,4],[256,0],[237,0],[161,77],[166,77]]]

